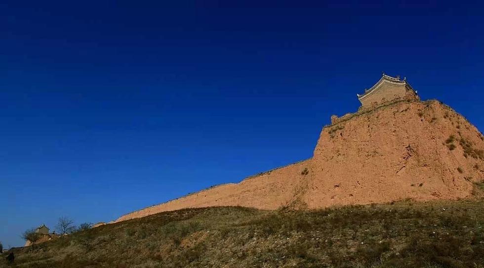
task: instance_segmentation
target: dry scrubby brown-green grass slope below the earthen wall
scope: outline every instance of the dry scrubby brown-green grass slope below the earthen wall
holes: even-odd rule
[[[484,267],[483,208],[461,200],[183,209],[16,249],[12,267]]]

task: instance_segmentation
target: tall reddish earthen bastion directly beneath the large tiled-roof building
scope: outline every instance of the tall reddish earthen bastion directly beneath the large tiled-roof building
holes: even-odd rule
[[[361,113],[323,129],[305,201],[316,208],[465,198],[484,179],[483,139],[438,101],[400,101]]]

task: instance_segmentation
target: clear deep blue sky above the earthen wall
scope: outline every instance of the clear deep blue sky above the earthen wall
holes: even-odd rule
[[[0,3],[4,246],[309,158],[382,71],[484,129],[482,6],[223,2]]]

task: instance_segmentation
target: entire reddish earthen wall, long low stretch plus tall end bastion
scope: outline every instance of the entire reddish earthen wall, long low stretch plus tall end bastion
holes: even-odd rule
[[[323,208],[460,199],[484,179],[484,137],[439,101],[400,100],[324,127],[313,158],[121,216],[187,207]]]

